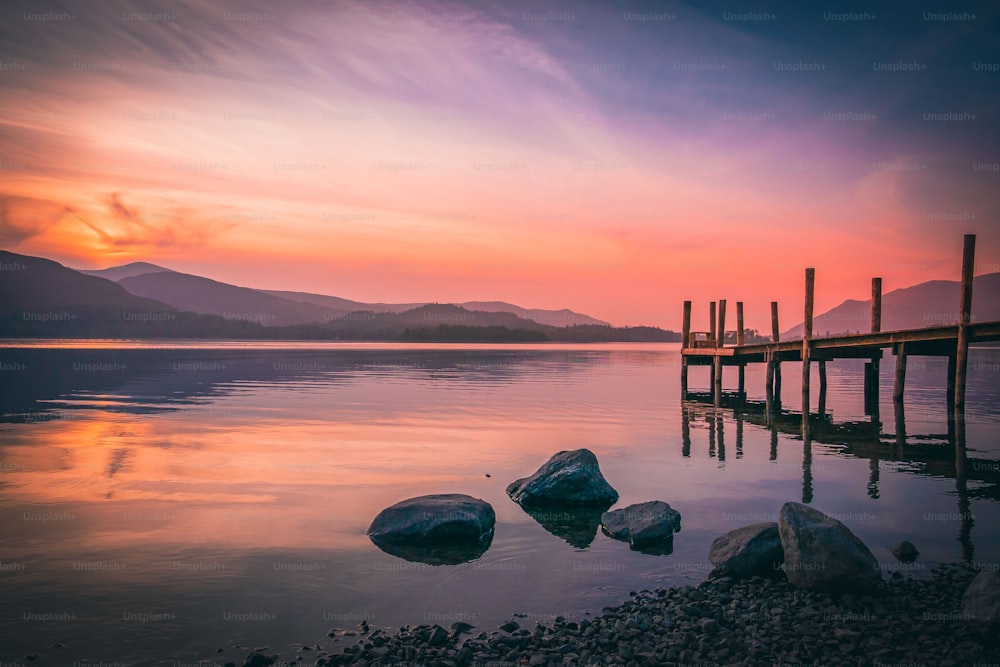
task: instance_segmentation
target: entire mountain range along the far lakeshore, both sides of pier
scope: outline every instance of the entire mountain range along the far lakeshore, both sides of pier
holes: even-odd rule
[[[612,327],[568,309],[502,301],[364,303],[257,290],[147,262],[74,270],[0,251],[0,336],[447,341],[679,341],[656,327]],[[957,321],[959,283],[932,280],[882,297],[882,330]],[[1000,320],[1000,273],[973,282],[973,321]],[[871,328],[871,300],[849,299],[817,315],[816,336]],[[802,325],[782,333],[801,338]]]

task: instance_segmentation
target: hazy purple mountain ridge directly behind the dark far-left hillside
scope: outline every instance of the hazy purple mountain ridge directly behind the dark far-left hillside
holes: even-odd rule
[[[237,287],[189,273],[160,271],[123,278],[118,284],[136,296],[168,303],[179,310],[218,315],[268,327],[326,322],[349,312],[290,301],[249,287]]]

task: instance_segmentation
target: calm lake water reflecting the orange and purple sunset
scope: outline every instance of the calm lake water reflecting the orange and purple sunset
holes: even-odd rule
[[[901,443],[887,358],[881,429],[861,364],[836,362],[830,423],[804,444],[795,416],[766,426],[762,367],[748,407],[682,403],[676,345],[0,348],[0,660],[240,664],[234,645],[289,660],[362,619],[492,631],[513,613],[581,616],[704,579],[716,536],[788,500],[840,518],[887,570],[901,539],[922,566],[997,563],[1000,350],[971,353],[958,475],[944,360],[911,358]],[[799,368],[785,365],[787,410]],[[707,388],[707,369],[690,385]],[[619,506],[682,513],[673,553],[631,552],[587,517],[546,527],[507,498],[579,447]],[[479,560],[410,562],[365,536],[385,506],[451,492],[496,509]]]

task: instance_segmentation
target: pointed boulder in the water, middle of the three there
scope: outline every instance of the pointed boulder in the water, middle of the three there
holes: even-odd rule
[[[507,486],[507,495],[521,505],[599,505],[605,508],[618,500],[597,457],[589,449],[559,452],[531,477]]]

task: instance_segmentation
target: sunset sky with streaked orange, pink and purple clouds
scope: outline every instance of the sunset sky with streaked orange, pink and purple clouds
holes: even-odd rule
[[[7,2],[0,248],[699,330],[1000,271],[1000,6],[743,4]]]

